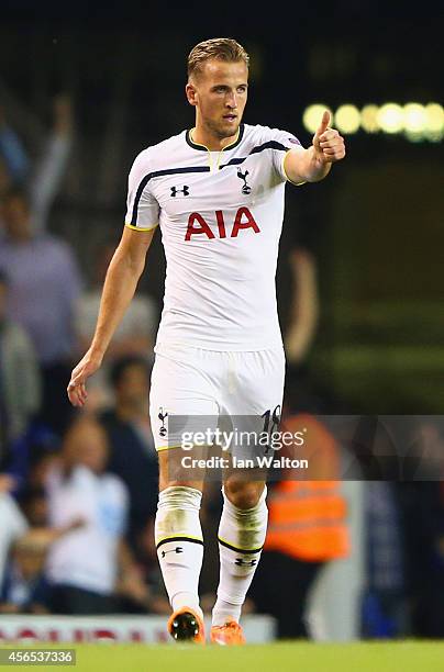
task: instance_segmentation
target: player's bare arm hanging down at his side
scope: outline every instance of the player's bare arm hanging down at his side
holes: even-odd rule
[[[86,381],[100,368],[110,340],[130,305],[145,267],[146,253],[154,232],[155,228],[134,231],[129,226],[124,227],[108,268],[91,345],[73,370],[68,384],[68,397],[74,406],[82,406],[86,402]]]

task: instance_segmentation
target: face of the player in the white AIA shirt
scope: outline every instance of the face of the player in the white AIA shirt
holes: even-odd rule
[[[188,101],[197,109],[197,123],[219,138],[235,135],[244,114],[247,89],[248,68],[243,60],[207,60],[202,72],[187,86]]]

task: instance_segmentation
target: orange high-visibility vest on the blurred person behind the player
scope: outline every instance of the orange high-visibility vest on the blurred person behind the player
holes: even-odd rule
[[[285,423],[285,430],[296,432],[302,426],[309,444],[302,455],[311,455],[314,461],[310,464],[310,477],[320,475],[322,480],[303,481],[301,474],[290,470],[285,474],[286,480],[270,489],[264,549],[311,562],[344,558],[349,552],[346,501],[337,480],[324,480],[326,475],[338,478],[337,445],[328,429],[310,415],[292,416]]]

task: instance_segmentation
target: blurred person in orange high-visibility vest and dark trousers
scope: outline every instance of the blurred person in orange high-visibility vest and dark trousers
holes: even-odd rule
[[[309,635],[309,590],[325,562],[349,552],[346,502],[337,480],[338,446],[308,414],[285,418],[282,430],[295,435],[302,427],[310,441],[303,449],[282,446],[279,455],[308,459],[310,480],[300,480],[297,469],[286,469],[270,486],[267,538],[249,594],[259,612],[275,616],[277,636],[284,639]]]

